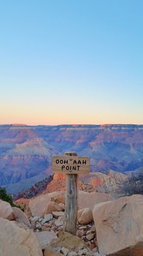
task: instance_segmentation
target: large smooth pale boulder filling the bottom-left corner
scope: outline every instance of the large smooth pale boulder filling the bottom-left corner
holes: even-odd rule
[[[43,256],[43,253],[33,232],[0,218],[0,255]]]

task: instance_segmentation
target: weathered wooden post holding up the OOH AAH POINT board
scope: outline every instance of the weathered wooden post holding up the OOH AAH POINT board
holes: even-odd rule
[[[65,156],[77,156],[76,152],[65,152]],[[66,205],[64,230],[77,235],[77,210],[78,210],[78,175],[66,174]]]

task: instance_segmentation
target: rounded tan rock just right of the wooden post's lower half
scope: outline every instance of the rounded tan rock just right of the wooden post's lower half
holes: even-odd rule
[[[80,224],[89,224],[91,221],[93,221],[92,211],[89,208],[84,208],[78,211],[78,223]]]

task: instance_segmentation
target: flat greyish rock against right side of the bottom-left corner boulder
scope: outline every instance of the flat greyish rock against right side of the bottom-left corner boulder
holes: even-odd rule
[[[37,235],[37,238],[40,242],[41,249],[46,249],[49,243],[53,239],[57,238],[57,235],[55,235],[54,231],[42,231],[35,234]]]

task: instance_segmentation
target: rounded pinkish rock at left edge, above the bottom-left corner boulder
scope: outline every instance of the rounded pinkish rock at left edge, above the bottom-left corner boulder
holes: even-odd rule
[[[8,220],[15,220],[12,206],[7,201],[0,200],[0,217]]]

